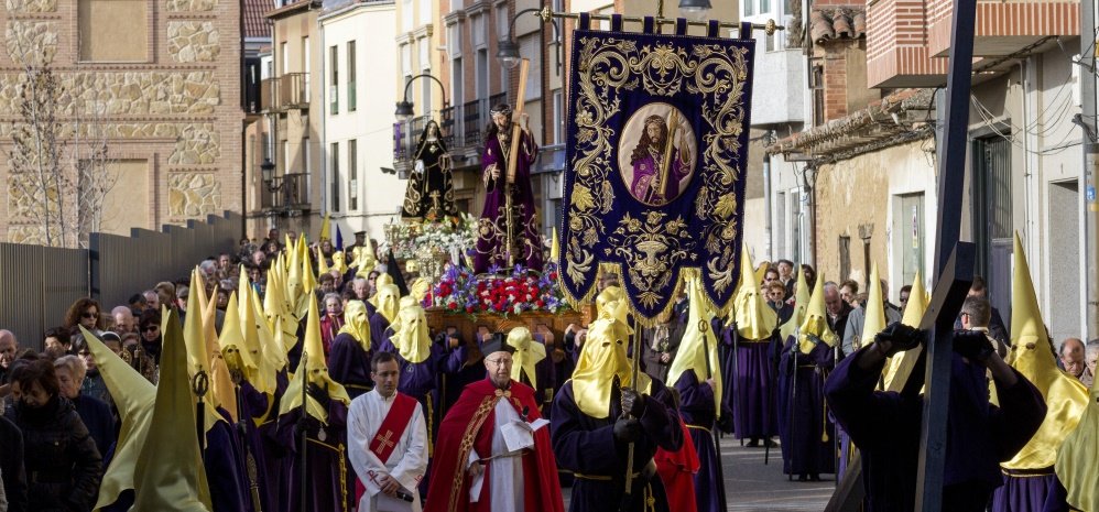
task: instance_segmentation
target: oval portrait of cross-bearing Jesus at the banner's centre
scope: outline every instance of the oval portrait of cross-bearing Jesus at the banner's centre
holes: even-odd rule
[[[641,107],[618,142],[618,168],[630,195],[664,206],[687,188],[698,159],[695,131],[679,109],[664,102]]]

